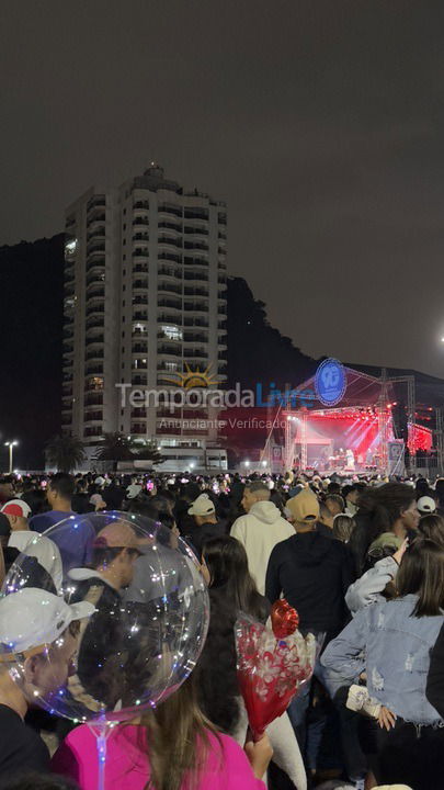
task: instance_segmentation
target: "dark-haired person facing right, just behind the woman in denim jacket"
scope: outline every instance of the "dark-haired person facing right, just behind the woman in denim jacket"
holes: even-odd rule
[[[368,546],[384,532],[399,538],[413,537],[419,522],[414,490],[405,483],[386,483],[367,487],[358,498],[358,511],[354,516],[356,527],[350,538],[356,575],[361,576]]]

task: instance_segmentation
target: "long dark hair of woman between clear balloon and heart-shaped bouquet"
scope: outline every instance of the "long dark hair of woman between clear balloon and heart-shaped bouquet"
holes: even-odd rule
[[[205,543],[203,557],[209,571],[210,590],[224,588],[227,603],[236,613],[243,611],[266,620],[266,603],[248,569],[247,552],[236,538],[213,538]]]

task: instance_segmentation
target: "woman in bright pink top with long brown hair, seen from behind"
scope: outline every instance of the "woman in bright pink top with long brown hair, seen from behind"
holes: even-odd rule
[[[203,715],[194,673],[162,704],[134,724],[116,726],[106,743],[105,790],[259,790],[272,757],[266,735],[244,751]],[[82,790],[96,790],[95,736],[73,730],[53,758],[53,770]]]

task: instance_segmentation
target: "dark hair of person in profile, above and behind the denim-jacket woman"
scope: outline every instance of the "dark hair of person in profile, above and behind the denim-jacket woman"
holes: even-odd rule
[[[390,532],[414,499],[414,490],[405,483],[386,483],[379,488],[365,488],[357,504],[360,510],[369,517],[368,543],[383,532]]]

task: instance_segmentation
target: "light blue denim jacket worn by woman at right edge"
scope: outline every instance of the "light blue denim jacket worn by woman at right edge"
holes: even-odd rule
[[[412,617],[417,596],[372,603],[326,647],[321,664],[350,682],[364,669],[371,697],[414,724],[444,725],[425,698],[430,653],[444,614]]]

